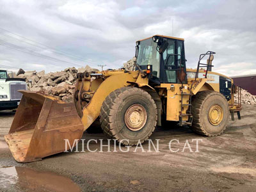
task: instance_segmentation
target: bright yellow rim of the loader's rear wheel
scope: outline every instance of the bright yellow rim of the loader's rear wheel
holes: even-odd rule
[[[221,106],[217,104],[211,106],[209,109],[208,118],[212,125],[219,125],[223,120],[223,110]]]

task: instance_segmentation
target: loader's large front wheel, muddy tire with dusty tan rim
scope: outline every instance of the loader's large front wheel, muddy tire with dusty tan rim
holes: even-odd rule
[[[124,145],[143,143],[155,130],[157,107],[147,92],[124,87],[111,92],[100,109],[103,132]]]

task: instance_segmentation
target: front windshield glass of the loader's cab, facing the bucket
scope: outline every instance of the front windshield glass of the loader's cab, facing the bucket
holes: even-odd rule
[[[152,65],[152,76],[159,78],[159,52],[157,52],[156,47],[157,44],[154,43],[151,38],[141,41],[139,45],[137,63],[140,66]]]

